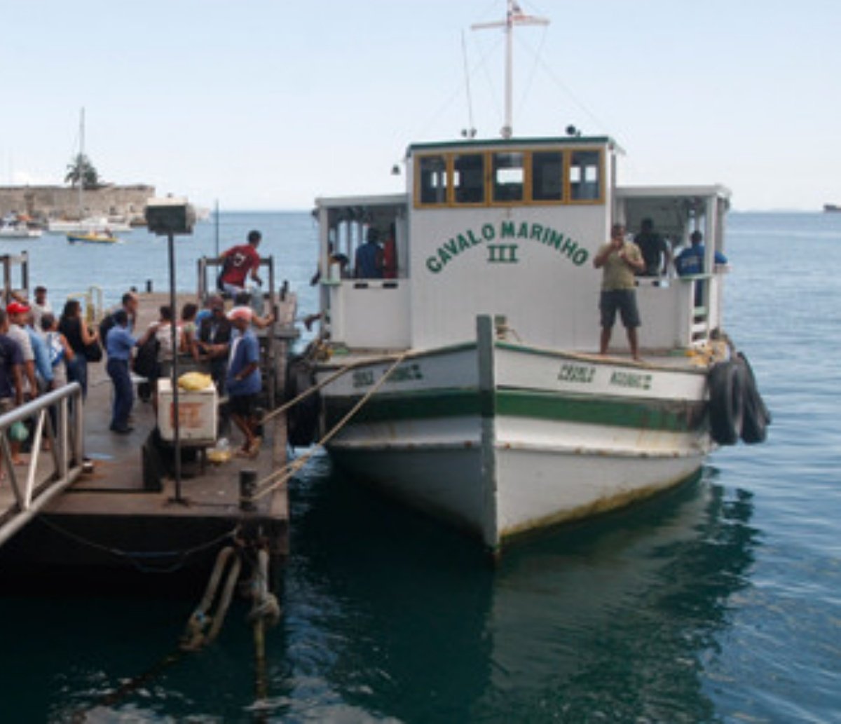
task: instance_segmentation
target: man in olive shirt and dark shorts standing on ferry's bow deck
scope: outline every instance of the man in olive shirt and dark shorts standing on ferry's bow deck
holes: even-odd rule
[[[637,309],[637,291],[634,275],[645,268],[643,255],[632,241],[625,240],[625,227],[614,224],[611,227],[611,240],[603,244],[593,259],[596,269],[604,269],[601,279],[601,340],[599,353],[606,354],[611,342],[611,331],[616,322],[616,310],[619,311],[631,347],[631,356],[639,359],[637,327],[639,310]]]

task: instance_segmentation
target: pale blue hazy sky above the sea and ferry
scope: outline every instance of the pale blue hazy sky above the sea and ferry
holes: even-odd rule
[[[841,203],[838,0],[520,0],[514,132],[610,135],[619,182]],[[220,209],[394,193],[412,142],[503,125],[505,0],[0,0],[0,185],[100,177]]]

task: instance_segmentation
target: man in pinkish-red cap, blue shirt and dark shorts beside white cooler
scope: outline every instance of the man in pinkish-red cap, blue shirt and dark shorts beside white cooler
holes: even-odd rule
[[[228,375],[225,380],[230,399],[230,416],[245,436],[237,455],[256,457],[260,449],[256,418],[257,396],[262,388],[260,345],[251,331],[251,309],[231,309],[228,318],[239,333],[230,343]]]

